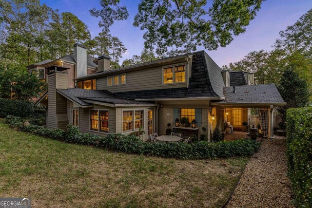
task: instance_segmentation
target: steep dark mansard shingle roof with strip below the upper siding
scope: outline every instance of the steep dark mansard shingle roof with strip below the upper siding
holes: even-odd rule
[[[193,54],[189,88],[170,88],[115,93],[127,99],[165,99],[186,97],[223,97],[224,82],[220,68],[206,52]]]

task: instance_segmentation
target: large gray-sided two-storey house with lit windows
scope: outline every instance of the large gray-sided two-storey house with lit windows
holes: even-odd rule
[[[285,104],[274,84],[255,85],[251,73],[222,71],[205,51],[121,69],[110,69],[110,58],[103,55],[98,57],[98,72],[89,74],[84,47],[76,47],[75,76],[64,63],[46,68],[48,92],[36,105],[47,108],[47,128],[64,129],[72,123],[81,132],[101,136],[141,128],[146,141],[151,133],[165,134],[171,123],[189,136],[200,135],[206,127],[209,138],[225,121],[236,129],[243,121],[252,124],[248,119],[257,108],[264,112],[261,122],[267,134],[273,136],[273,109]],[[176,127],[182,117],[195,120],[196,128]]]

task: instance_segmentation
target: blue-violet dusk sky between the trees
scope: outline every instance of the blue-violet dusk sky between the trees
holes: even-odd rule
[[[98,27],[99,19],[92,17],[89,12],[94,7],[100,8],[99,0],[41,0],[41,3],[46,3],[53,9],[59,9],[60,12],[73,13],[88,25],[92,37],[97,36],[102,30]],[[139,0],[120,0],[121,5],[127,6],[129,18],[115,21],[110,28],[111,34],[117,36],[127,48],[121,60],[139,55],[144,47],[142,38],[144,31],[132,25],[137,14],[138,3]],[[251,51],[271,50],[275,39],[278,38],[278,32],[292,25],[311,8],[312,0],[264,1],[244,34],[234,37],[232,43],[225,48],[219,48],[216,51],[206,50],[206,52],[221,67],[240,60]],[[197,47],[198,50],[204,50],[204,48]]]

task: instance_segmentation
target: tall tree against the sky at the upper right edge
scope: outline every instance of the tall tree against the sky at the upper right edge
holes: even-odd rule
[[[312,9],[300,17],[286,30],[279,32],[274,47],[284,49],[292,54],[300,51],[307,56],[312,56]]]

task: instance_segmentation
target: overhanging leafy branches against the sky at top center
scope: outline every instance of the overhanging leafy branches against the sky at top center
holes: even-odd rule
[[[146,30],[145,47],[159,56],[173,48],[170,55],[195,51],[197,45],[208,50],[225,47],[246,31],[263,0],[141,0],[133,25]],[[100,0],[101,10],[90,10],[101,17],[100,27],[109,27],[114,20],[128,18],[126,7],[119,0]],[[210,17],[210,18],[207,18]]]

